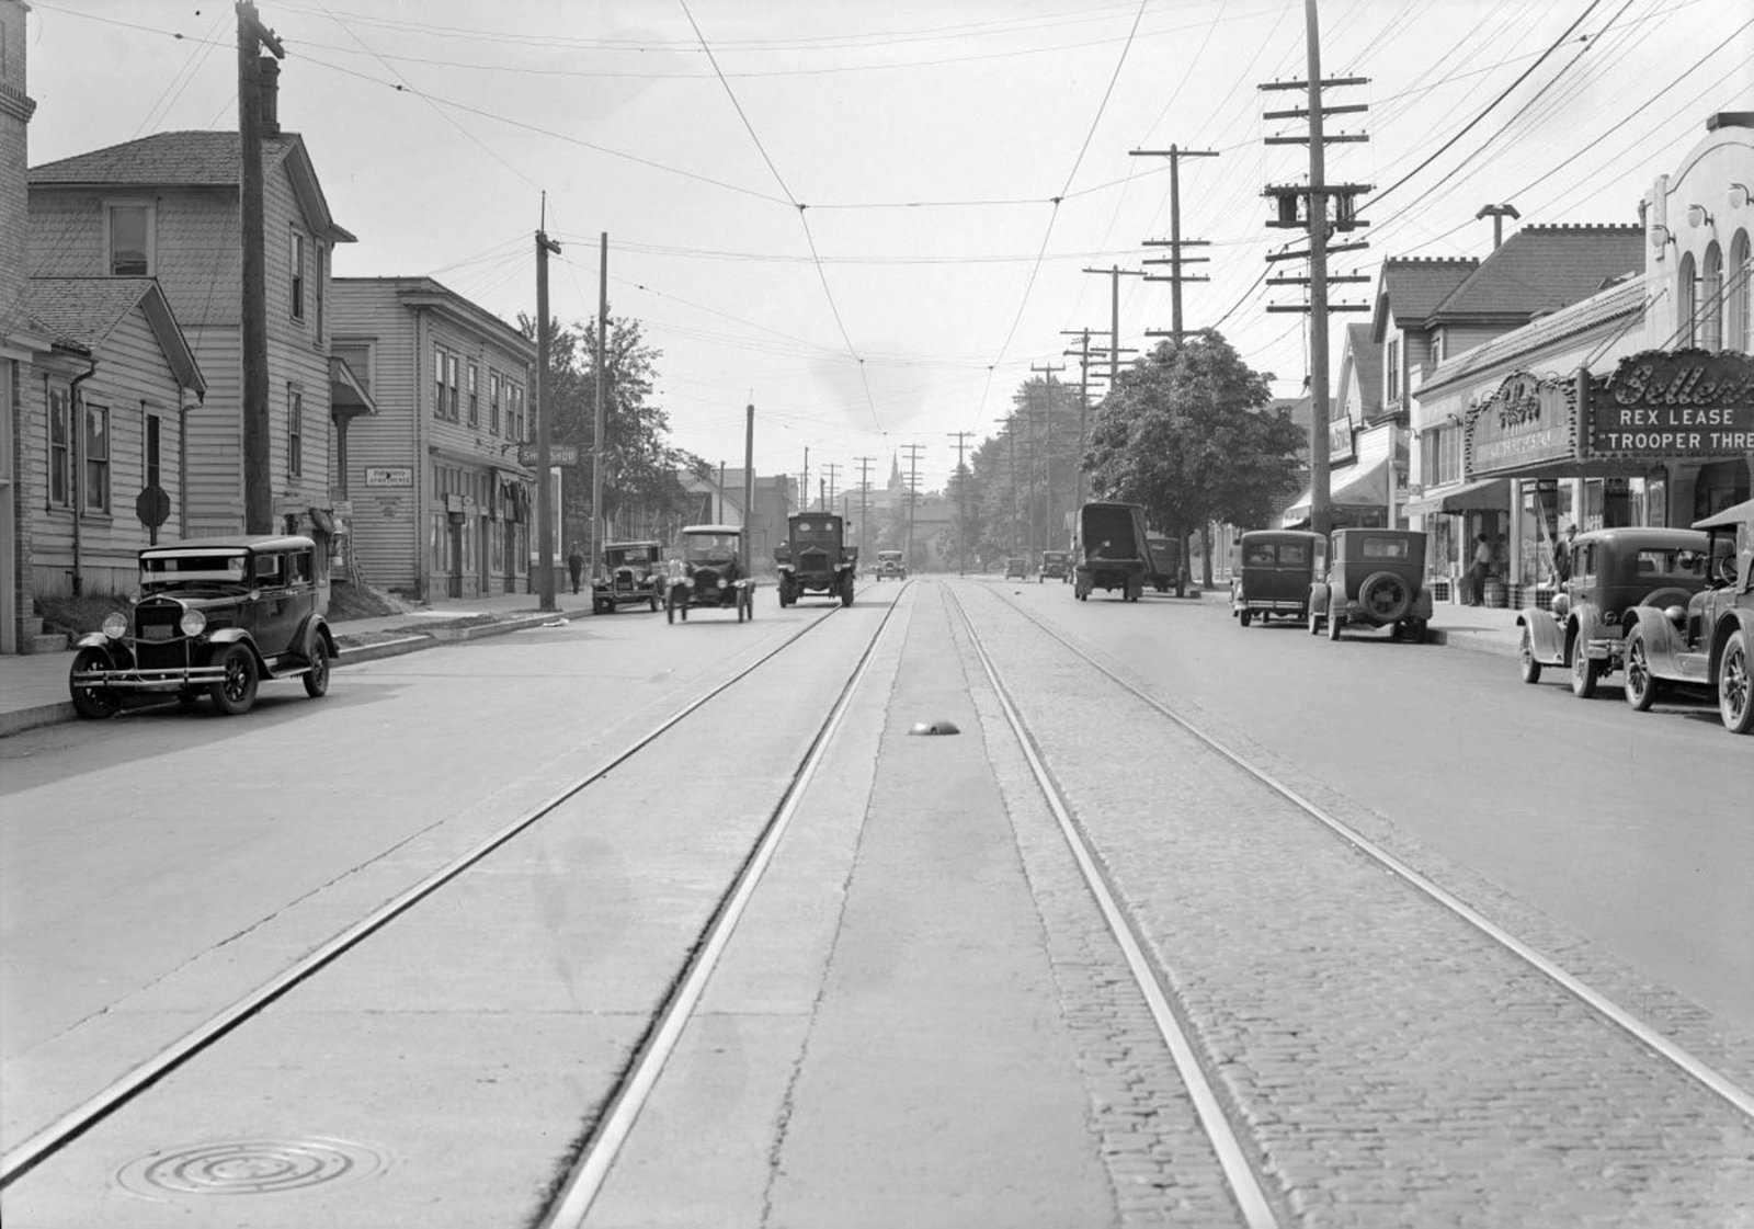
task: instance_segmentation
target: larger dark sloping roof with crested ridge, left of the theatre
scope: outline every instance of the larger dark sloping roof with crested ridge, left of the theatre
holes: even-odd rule
[[[1636,224],[1524,226],[1438,303],[1431,323],[1468,317],[1522,324],[1643,272]]]

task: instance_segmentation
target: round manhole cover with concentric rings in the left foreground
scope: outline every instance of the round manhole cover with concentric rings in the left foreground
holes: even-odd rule
[[[130,1161],[116,1180],[142,1196],[272,1196],[368,1178],[384,1159],[347,1140],[223,1140]]]

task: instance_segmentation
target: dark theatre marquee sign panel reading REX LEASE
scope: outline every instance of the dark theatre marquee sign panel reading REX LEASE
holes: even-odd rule
[[[1647,351],[1589,389],[1591,456],[1754,452],[1754,359]]]

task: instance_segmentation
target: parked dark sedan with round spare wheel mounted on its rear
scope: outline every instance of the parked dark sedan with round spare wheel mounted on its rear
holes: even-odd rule
[[[1310,584],[1308,629],[1338,640],[1347,624],[1389,628],[1389,638],[1424,640],[1431,591],[1424,586],[1426,535],[1417,529],[1335,529],[1328,573]]]

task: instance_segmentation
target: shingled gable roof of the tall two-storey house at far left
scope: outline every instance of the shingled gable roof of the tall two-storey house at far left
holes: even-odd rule
[[[239,140],[235,131],[158,131],[32,167],[26,179],[32,188],[239,188]],[[356,242],[330,214],[303,137],[282,131],[261,139],[263,170],[281,163],[317,237]]]

